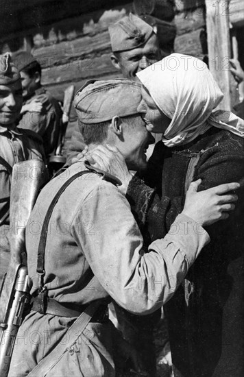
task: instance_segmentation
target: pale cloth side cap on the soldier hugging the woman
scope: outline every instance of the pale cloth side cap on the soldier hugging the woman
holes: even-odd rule
[[[110,121],[113,117],[138,114],[141,84],[129,79],[89,80],[77,91],[74,106],[85,124]]]

